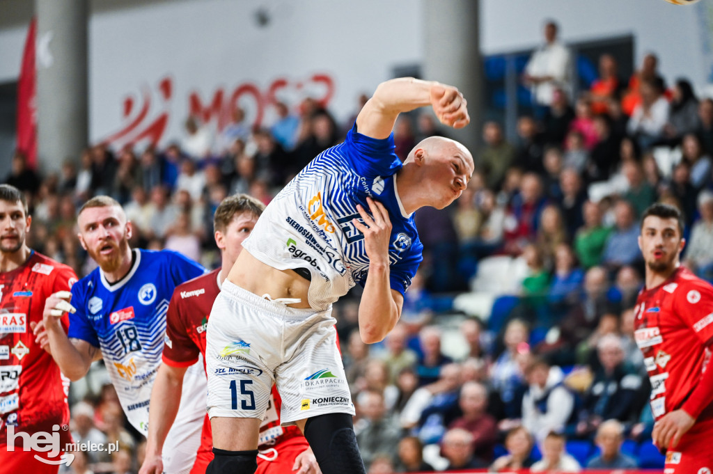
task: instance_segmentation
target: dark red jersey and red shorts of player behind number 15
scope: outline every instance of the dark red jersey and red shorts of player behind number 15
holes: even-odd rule
[[[162,356],[165,364],[188,367],[198,361],[199,354],[204,356],[205,364],[205,329],[210,309],[220,293],[219,277],[220,269],[217,269],[176,287],[166,315],[166,344]],[[281,406],[282,400],[273,386],[270,407],[260,426],[257,474],[292,472],[294,458],[309,447],[299,428],[280,426]],[[212,435],[206,415],[191,474],[205,473],[212,458]]]

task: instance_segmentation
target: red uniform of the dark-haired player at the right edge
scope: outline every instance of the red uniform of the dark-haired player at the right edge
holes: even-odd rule
[[[713,287],[684,267],[643,289],[635,308],[635,339],[651,381],[656,421],[682,408],[696,423],[667,450],[665,473],[713,471]]]

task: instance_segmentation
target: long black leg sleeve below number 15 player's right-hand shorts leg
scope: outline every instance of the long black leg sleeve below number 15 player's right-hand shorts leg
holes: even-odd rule
[[[351,415],[327,413],[309,418],[304,424],[304,437],[322,474],[366,474]]]

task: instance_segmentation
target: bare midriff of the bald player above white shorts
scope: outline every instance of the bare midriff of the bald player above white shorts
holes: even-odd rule
[[[260,262],[249,252],[240,252],[235,264],[230,269],[227,279],[238,287],[262,297],[299,298],[301,301],[288,304],[293,308],[309,308],[307,292],[309,282],[292,270],[278,270]]]

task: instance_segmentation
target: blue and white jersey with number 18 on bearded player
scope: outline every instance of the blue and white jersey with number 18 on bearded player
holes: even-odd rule
[[[200,264],[178,252],[134,249],[123,279],[110,284],[95,269],[72,287],[70,338],[101,349],[126,418],[148,433],[148,402],[166,331],[166,311],[173,289],[200,276]]]

